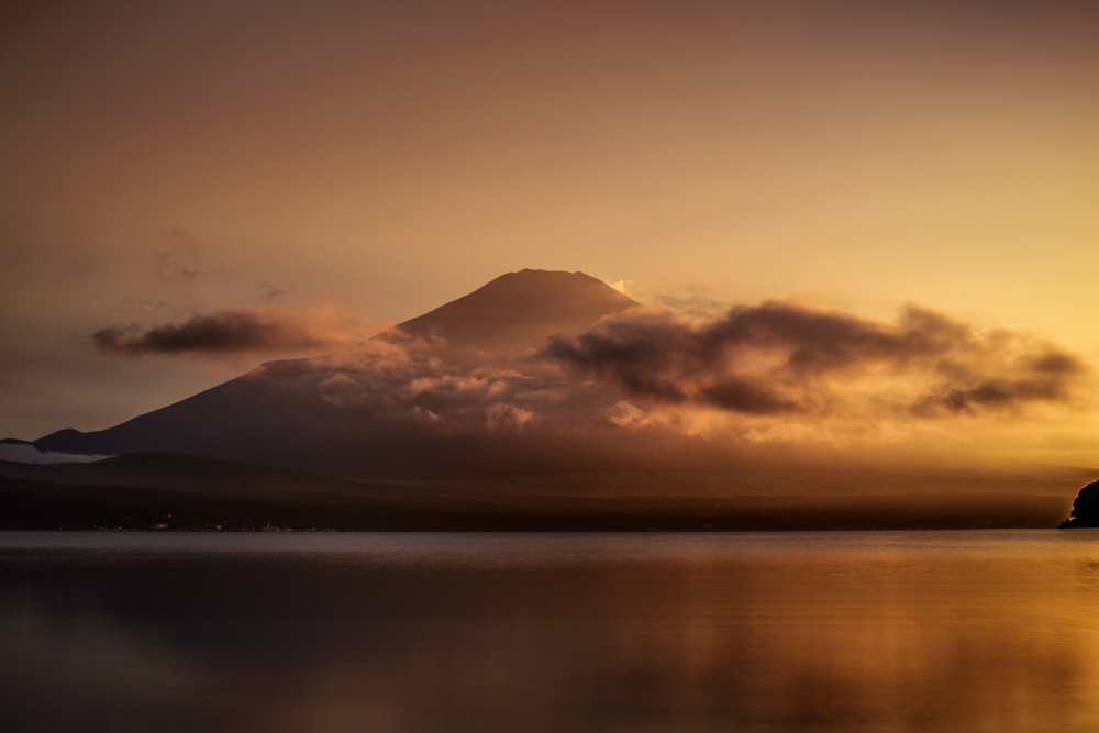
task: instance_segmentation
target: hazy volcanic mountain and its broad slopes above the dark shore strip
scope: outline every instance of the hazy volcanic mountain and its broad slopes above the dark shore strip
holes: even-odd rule
[[[807,495],[1040,495],[1052,498],[1053,509],[1043,510],[1045,519],[1050,511],[1064,515],[1079,486],[1095,478],[1095,471],[1086,469],[1029,464],[973,464],[963,469],[925,462],[874,463],[875,456],[862,455],[847,464],[814,464],[811,455],[753,443],[743,433],[714,437],[695,430],[691,407],[680,410],[674,395],[664,402],[645,402],[629,391],[629,374],[618,381],[604,379],[598,369],[574,371],[569,363],[555,358],[574,338],[613,349],[613,341],[585,340],[585,334],[606,334],[615,319],[621,332],[654,316],[640,311],[637,318],[622,318],[634,308],[636,302],[582,273],[510,273],[354,347],[317,358],[269,362],[113,427],[63,430],[33,446],[55,455],[186,454],[196,460],[304,470],[410,490],[491,492],[497,497],[492,501],[508,496],[508,502],[518,496],[550,495],[562,501],[739,496],[778,504]],[[615,357],[608,359],[612,365],[664,358],[654,342],[641,351],[610,355]],[[79,475],[131,486],[131,478],[115,475],[131,464],[108,465],[110,471],[58,468],[48,478],[45,473],[10,478],[64,485],[70,481],[66,477]],[[221,486],[209,478],[221,468],[201,478],[164,459],[158,465],[167,466],[162,473],[175,482],[142,474],[143,487],[178,492],[189,484],[211,491]],[[275,487],[273,476],[265,474],[263,485]],[[258,485],[249,479],[253,484]],[[1007,509],[1020,500],[1001,503]],[[806,506],[823,511],[818,503]],[[973,519],[984,517],[985,509],[966,512]],[[829,526],[846,521],[835,519]],[[1001,520],[980,520],[986,521]]]

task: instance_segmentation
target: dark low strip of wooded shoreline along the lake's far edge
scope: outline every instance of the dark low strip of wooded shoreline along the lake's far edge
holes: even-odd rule
[[[402,491],[391,499],[226,497],[143,487],[66,486],[0,478],[0,530],[295,532],[673,532],[977,530],[1056,527],[1062,497],[455,497]]]

